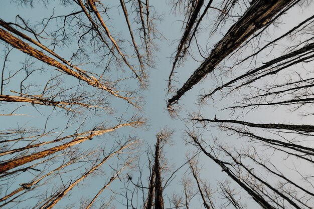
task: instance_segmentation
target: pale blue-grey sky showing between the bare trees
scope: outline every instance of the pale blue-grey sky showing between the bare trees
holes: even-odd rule
[[[118,4],[118,3],[117,3]],[[162,21],[161,23],[157,23],[157,28],[160,31],[160,33],[163,35],[163,37],[160,38],[160,40],[156,40],[156,45],[158,46],[158,51],[154,52],[154,67],[153,68],[147,68],[149,71],[149,85],[146,90],[143,91],[142,96],[144,100],[143,111],[138,112],[139,115],[142,115],[143,117],[147,118],[147,125],[145,127],[139,128],[139,129],[133,129],[133,128],[125,128],[123,130],[119,130],[118,134],[119,137],[129,136],[129,135],[136,135],[142,144],[142,149],[140,152],[144,152],[147,145],[152,145],[155,143],[155,136],[156,133],[159,132],[164,127],[168,127],[170,130],[174,130],[174,134],[172,136],[172,143],[171,145],[165,146],[165,157],[169,161],[169,165],[172,168],[172,170],[176,170],[179,166],[181,166],[183,163],[186,162],[186,153],[192,154],[196,151],[193,146],[186,143],[186,133],[185,130],[188,128],[191,128],[191,122],[189,122],[188,118],[190,115],[193,115],[195,112],[201,112],[203,115],[205,115],[208,118],[213,119],[215,115],[221,119],[228,119],[228,118],[238,118],[240,116],[239,113],[232,114],[231,111],[223,111],[221,110],[223,107],[229,106],[229,104],[232,104],[235,100],[238,99],[238,95],[235,93],[232,96],[229,96],[227,98],[219,99],[219,96],[217,97],[217,100],[215,100],[215,103],[210,101],[208,104],[204,104],[199,106],[198,105],[198,95],[200,92],[204,92],[207,89],[209,89],[212,86],[215,86],[215,83],[213,82],[213,76],[208,76],[201,84],[196,85],[192,90],[187,92],[187,94],[183,97],[183,100],[180,100],[180,109],[178,106],[178,116],[171,117],[168,110],[166,101],[169,98],[169,95],[167,95],[167,81],[168,77],[171,71],[172,67],[172,59],[171,57],[174,55],[173,53],[176,50],[176,47],[178,45],[178,40],[181,38],[182,35],[182,23],[179,20],[182,20],[182,16],[179,14],[174,15],[170,12],[170,6],[168,1],[150,1],[150,5],[152,5],[155,9],[155,11],[160,15]],[[301,9],[293,9],[290,11],[290,13],[286,14],[282,19],[282,23],[280,23],[280,27],[278,28],[271,28],[269,30],[269,36],[278,36],[279,34],[282,34],[282,31],[288,30],[291,28],[291,26],[294,26],[296,23],[300,22],[300,20],[304,20],[306,17],[311,15],[313,4],[310,5],[310,7],[305,8],[304,10]],[[52,13],[52,8],[54,9],[55,14],[63,14],[66,11],[71,10],[71,6],[68,8],[60,7],[59,3],[50,3],[47,7],[43,7],[41,4],[36,5],[33,9],[30,9],[29,7],[17,7],[14,2],[6,2],[2,5],[0,8],[0,16],[1,19],[7,21],[7,22],[14,22],[15,17],[17,15],[20,15],[21,17],[25,19],[29,19],[31,22],[36,23],[40,21],[43,17],[50,16]],[[126,25],[123,19],[123,16],[121,13],[117,12],[116,7],[112,7],[110,9],[110,27],[112,29],[115,29],[118,31],[121,37],[127,37],[127,31],[126,31]],[[206,19],[208,21],[208,19]],[[207,46],[208,48],[211,48],[214,46],[215,43],[219,41],[220,38],[222,38],[222,35],[225,31],[228,30],[228,26],[230,26],[232,22],[227,22],[225,27],[221,29],[220,33],[217,33],[216,35],[209,37],[208,32],[206,30],[206,27],[203,29],[203,31],[200,32],[198,35],[198,42],[201,46]],[[267,37],[266,37],[267,38]],[[4,49],[4,45],[2,44],[1,49]],[[196,48],[192,49],[194,52],[197,50]],[[277,50],[277,49],[275,49]],[[61,55],[67,56],[71,53],[71,49],[58,49],[58,52]],[[282,51],[278,50],[271,54],[271,56],[276,56],[281,54]],[[3,54],[1,55],[1,59],[3,60]],[[25,56],[17,52],[17,50],[14,50],[10,56],[10,67],[18,69],[21,67],[21,62],[23,62],[25,59]],[[195,61],[191,57],[188,57],[184,65],[177,70],[176,76],[178,76],[177,86],[178,88],[181,87],[184,82],[190,77],[190,75],[194,72],[195,69],[200,65],[202,58],[195,53],[195,59],[198,60]],[[262,63],[264,60],[269,59],[269,56],[267,54],[261,55],[260,60],[258,60],[259,63]],[[232,58],[228,58],[226,60],[226,65],[229,63],[233,63],[234,60]],[[40,64],[37,66],[40,66]],[[88,66],[88,65],[87,65]],[[0,65],[2,67],[2,64]],[[92,67],[91,67],[92,68]],[[51,68],[52,69],[52,68]],[[50,69],[49,69],[50,70]],[[238,72],[233,72],[234,74],[237,74]],[[46,76],[55,75],[56,72],[49,71],[45,73],[34,73],[34,81],[37,82],[37,84],[41,84],[44,82]],[[21,80],[21,77],[18,75],[15,77],[17,82]],[[66,84],[72,84],[71,82],[75,82],[74,80],[71,80],[71,78],[66,78],[68,80],[65,80]],[[19,85],[16,85],[13,80],[13,87],[12,88],[18,88]],[[67,83],[69,82],[69,83]],[[133,84],[131,84],[133,85]],[[11,87],[10,87],[11,88]],[[7,88],[9,89],[9,87]],[[9,93],[9,92],[8,92]],[[110,99],[111,100],[111,99]],[[217,102],[216,102],[217,101]],[[10,110],[13,110],[16,108],[16,106],[9,106],[11,104],[0,104],[0,113],[7,112]],[[106,123],[114,124],[117,122],[118,117],[122,116],[124,118],[127,118],[128,116],[131,116],[134,112],[137,110],[134,110],[134,108],[128,106],[127,104],[122,104],[122,102],[118,101],[117,99],[112,99],[112,106],[115,107],[116,112],[113,115],[106,115],[106,114],[100,114],[97,116],[93,116],[92,114],[89,114],[88,112],[85,113],[84,117],[87,116],[87,122],[86,122],[86,129],[92,128],[96,126],[99,123],[103,123],[106,121]],[[254,112],[250,112],[249,114],[246,114],[244,116],[241,116],[241,120],[250,120],[252,122],[261,122],[261,121],[267,121],[267,119],[271,118],[272,122],[290,122],[291,118],[293,118],[296,122],[301,122],[302,118],[299,116],[294,116],[294,113],[287,113],[287,108],[277,108],[277,109],[271,109],[271,108],[265,108],[265,109],[257,109]],[[51,114],[49,117],[49,122],[47,125],[47,129],[58,127],[58,131],[62,130],[63,127],[66,126],[68,123],[68,115],[64,114],[62,111],[52,111],[50,107],[32,107],[32,105],[27,105],[21,110],[17,111],[19,114],[27,114],[28,116],[10,116],[5,117],[2,116],[0,119],[0,127],[2,130],[9,129],[12,127],[18,126],[29,126],[29,127],[39,127],[44,128],[45,121],[47,120],[47,117]],[[73,127],[70,127],[65,131],[66,133],[71,133],[73,130],[75,130],[76,127],[79,126],[82,118],[84,117],[78,117],[74,120],[71,120],[71,123],[73,121],[77,121],[76,123],[73,123]],[[60,130],[59,130],[60,129]],[[235,142],[233,138],[227,137],[226,133],[222,132],[219,129],[211,129],[208,131],[205,136],[211,137],[211,136],[217,136],[218,139],[222,143],[235,143],[235,146],[245,146],[245,143],[242,144],[239,142]],[[92,140],[84,149],[93,148],[97,146],[107,146],[110,147],[111,143],[106,142],[103,143],[102,140],[110,141],[110,139],[113,139],[117,137],[117,135],[113,136],[105,136],[105,137],[99,137],[96,140]],[[145,160],[145,154],[141,154],[143,156],[143,161]],[[210,179],[211,184],[215,184],[218,182],[219,179],[225,179],[226,175],[222,174],[221,169],[215,165],[213,162],[209,161],[205,156],[200,156],[200,159],[202,161],[202,165],[204,169],[201,172],[201,176],[207,179]],[[278,158],[278,162],[280,162],[280,159]],[[112,162],[114,163],[114,162]],[[172,182],[170,186],[168,186],[167,189],[165,189],[165,192],[167,195],[171,195],[172,192],[178,192],[180,187],[180,180],[182,175],[187,172],[188,167],[183,167],[180,172],[176,174],[175,180]],[[83,170],[84,171],[84,170]],[[79,175],[82,172],[81,169],[77,168],[76,174]],[[147,176],[147,171],[144,173]],[[109,173],[109,172],[108,172]],[[171,173],[171,172],[170,172]],[[168,174],[169,175],[169,174]],[[109,177],[108,177],[109,176]],[[99,183],[99,179],[101,180],[107,180],[110,178],[111,175],[106,176],[94,176],[94,178],[86,180],[84,184],[80,184],[78,188],[73,189],[71,191],[71,196],[69,198],[64,198],[60,202],[60,208],[61,205],[66,205],[69,202],[72,202],[74,199],[80,199],[81,195],[86,195],[86,193],[90,194],[95,191],[97,191],[103,184]],[[133,176],[137,176],[136,173],[133,173]],[[71,179],[73,177],[73,174],[67,175],[65,174],[64,179]],[[25,178],[25,179],[23,179]],[[31,174],[25,175],[22,179],[18,179],[17,181],[27,181],[28,179],[33,178]],[[14,180],[15,181],[15,180]],[[53,185],[50,184],[50,186]],[[112,189],[116,190],[117,192],[121,190],[121,183],[112,184]],[[50,188],[50,187],[48,187]],[[52,187],[53,188],[53,187]],[[52,189],[50,188],[50,189]],[[238,189],[238,188],[237,188]],[[108,195],[110,191],[105,193]],[[179,191],[180,193],[180,191]],[[87,195],[88,196],[88,195]],[[92,195],[89,195],[90,197]],[[245,194],[243,196],[247,197]],[[119,198],[121,198],[119,195],[116,198],[117,201],[119,201]],[[77,200],[79,201],[79,200]],[[195,204],[198,206],[201,205],[199,200],[195,200]],[[218,200],[219,201],[219,200]],[[245,201],[247,201],[248,208],[250,208],[250,204],[252,204],[251,200],[249,198],[245,198]],[[18,205],[16,208],[24,208],[24,204],[30,203],[29,201],[26,201],[25,203],[22,203]],[[254,204],[252,204],[254,205]],[[201,206],[199,206],[201,208]],[[119,208],[119,206],[117,206]]]

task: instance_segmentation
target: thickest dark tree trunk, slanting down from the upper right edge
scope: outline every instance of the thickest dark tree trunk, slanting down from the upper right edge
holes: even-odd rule
[[[215,45],[208,58],[194,71],[187,82],[168,100],[168,108],[192,89],[207,74],[257,30],[263,28],[272,18],[294,0],[264,1],[256,0],[243,16],[229,29],[226,35]]]

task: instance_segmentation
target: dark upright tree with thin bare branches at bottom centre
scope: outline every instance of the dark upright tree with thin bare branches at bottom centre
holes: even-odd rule
[[[164,157],[164,146],[171,142],[172,131],[167,128],[156,134],[156,143],[154,148],[148,148],[146,151],[147,160],[144,166],[147,166],[149,176],[144,179],[146,172],[143,171],[143,165],[138,163],[135,169],[137,176],[127,174],[128,178],[124,182],[125,191],[121,193],[123,205],[126,208],[165,208],[164,203],[164,176],[167,172],[167,160]],[[137,180],[135,180],[137,177]],[[146,181],[147,180],[147,185]],[[165,183],[165,184],[164,184]],[[141,202],[141,203],[139,203]]]

